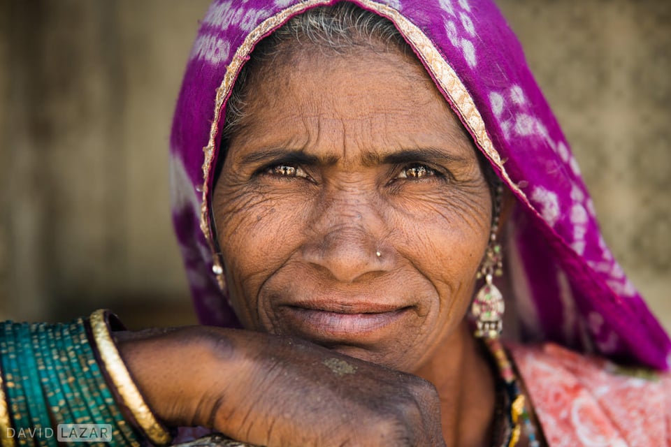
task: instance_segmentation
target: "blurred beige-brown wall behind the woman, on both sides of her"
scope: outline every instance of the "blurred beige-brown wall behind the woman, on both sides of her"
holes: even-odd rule
[[[671,330],[671,2],[498,0],[605,239]],[[0,2],[0,318],[193,323],[168,207],[208,0]]]

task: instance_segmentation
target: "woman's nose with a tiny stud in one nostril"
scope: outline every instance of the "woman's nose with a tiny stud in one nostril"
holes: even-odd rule
[[[348,193],[325,199],[312,220],[303,259],[345,284],[391,270],[384,219],[370,200]]]

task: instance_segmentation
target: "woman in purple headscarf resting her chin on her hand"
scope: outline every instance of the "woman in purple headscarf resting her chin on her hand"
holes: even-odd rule
[[[102,409],[157,442],[152,411],[270,446],[668,444],[668,377],[587,355],[666,370],[671,343],[496,7],[331,3],[205,16],[171,154],[208,326],[113,332],[122,363],[94,314]]]

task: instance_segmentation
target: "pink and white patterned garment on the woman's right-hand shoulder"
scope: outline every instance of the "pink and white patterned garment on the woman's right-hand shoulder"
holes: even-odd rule
[[[671,446],[669,374],[550,343],[509,348],[550,446]]]

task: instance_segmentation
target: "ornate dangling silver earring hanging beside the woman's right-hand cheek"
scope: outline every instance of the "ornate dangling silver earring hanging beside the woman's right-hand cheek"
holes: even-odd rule
[[[505,304],[503,295],[501,295],[498,287],[493,284],[494,276],[500,277],[503,275],[503,254],[501,253],[501,244],[496,240],[502,197],[503,184],[499,183],[494,195],[489,245],[487,245],[480,270],[477,272],[478,279],[484,278],[484,286],[477,292],[470,305],[470,312],[476,321],[475,337],[478,338],[496,339],[503,330]]]

